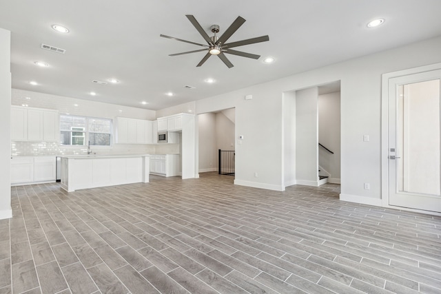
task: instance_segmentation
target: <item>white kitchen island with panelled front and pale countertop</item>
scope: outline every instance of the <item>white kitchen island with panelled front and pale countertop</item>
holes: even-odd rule
[[[61,188],[68,192],[149,182],[149,173],[148,154],[61,156]]]

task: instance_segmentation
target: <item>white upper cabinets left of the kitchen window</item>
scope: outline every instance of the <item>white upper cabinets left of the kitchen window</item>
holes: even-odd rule
[[[59,140],[59,113],[56,110],[11,106],[12,141]]]

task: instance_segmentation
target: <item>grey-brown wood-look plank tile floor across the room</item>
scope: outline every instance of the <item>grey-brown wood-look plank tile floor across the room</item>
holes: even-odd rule
[[[0,293],[441,293],[441,218],[214,173],[12,187]]]

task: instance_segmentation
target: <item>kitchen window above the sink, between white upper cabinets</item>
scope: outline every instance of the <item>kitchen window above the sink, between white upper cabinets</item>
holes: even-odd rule
[[[85,116],[60,116],[60,143],[67,146],[110,146],[112,120]]]

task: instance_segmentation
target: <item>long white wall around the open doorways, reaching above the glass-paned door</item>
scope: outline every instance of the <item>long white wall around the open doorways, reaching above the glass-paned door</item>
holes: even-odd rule
[[[381,75],[441,61],[441,37],[196,101],[198,113],[236,107],[235,183],[267,189],[283,186],[283,92],[341,81],[341,195],[381,205]],[[244,96],[253,99],[245,101]],[[370,136],[363,142],[363,135]],[[258,171],[258,178],[254,172]],[[369,182],[371,189],[363,189]]]

